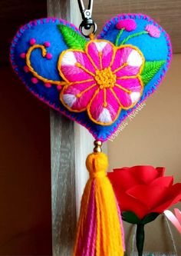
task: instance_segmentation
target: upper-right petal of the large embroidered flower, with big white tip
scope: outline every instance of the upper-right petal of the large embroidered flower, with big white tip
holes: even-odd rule
[[[114,57],[111,70],[118,76],[137,75],[143,66],[143,55],[137,48],[120,46]]]

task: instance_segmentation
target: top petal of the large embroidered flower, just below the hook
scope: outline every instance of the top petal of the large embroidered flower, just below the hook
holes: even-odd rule
[[[114,55],[113,45],[105,40],[95,40],[87,45],[87,54],[98,69],[110,66]]]

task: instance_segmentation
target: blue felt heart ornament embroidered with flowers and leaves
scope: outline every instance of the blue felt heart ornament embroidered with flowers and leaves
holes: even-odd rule
[[[169,35],[146,15],[117,15],[90,40],[71,23],[21,27],[12,67],[33,95],[106,141],[156,90],[172,57]]]

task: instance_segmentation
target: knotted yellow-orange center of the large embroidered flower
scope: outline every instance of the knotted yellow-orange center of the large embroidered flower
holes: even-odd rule
[[[111,71],[110,67],[97,70],[94,76],[100,89],[112,88],[117,81],[117,76]]]

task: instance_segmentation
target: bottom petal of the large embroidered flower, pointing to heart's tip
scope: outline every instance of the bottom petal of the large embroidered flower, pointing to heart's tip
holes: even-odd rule
[[[104,89],[97,91],[87,108],[90,118],[100,125],[110,125],[120,113],[120,105],[109,88],[106,91],[107,106],[104,105]]]

